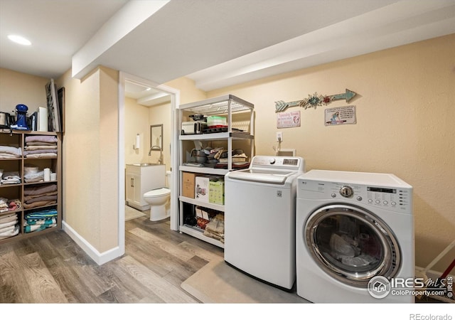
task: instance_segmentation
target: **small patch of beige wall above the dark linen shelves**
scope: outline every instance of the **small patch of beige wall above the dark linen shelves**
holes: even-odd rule
[[[0,68],[0,111],[16,114],[16,105],[26,105],[28,113],[46,107],[47,78]]]

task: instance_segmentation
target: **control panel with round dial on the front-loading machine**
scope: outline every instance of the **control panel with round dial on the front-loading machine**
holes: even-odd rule
[[[299,179],[297,198],[350,201],[363,206],[382,207],[402,213],[412,212],[412,188],[396,188],[355,183]]]

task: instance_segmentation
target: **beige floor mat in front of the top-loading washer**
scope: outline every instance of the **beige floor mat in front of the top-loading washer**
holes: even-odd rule
[[[227,265],[223,260],[208,262],[182,282],[183,290],[203,303],[308,303],[295,292],[269,286]]]

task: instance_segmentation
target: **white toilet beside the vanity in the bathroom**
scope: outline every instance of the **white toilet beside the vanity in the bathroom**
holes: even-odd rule
[[[170,215],[166,204],[171,198],[171,171],[166,171],[166,184],[167,187],[157,188],[144,193],[144,200],[150,204],[151,221],[162,220]]]

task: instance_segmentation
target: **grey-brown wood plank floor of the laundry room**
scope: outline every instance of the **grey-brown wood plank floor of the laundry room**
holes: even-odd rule
[[[125,225],[125,255],[101,266],[62,230],[0,245],[0,302],[199,303],[180,285],[223,260],[223,249],[170,230],[169,220]]]

